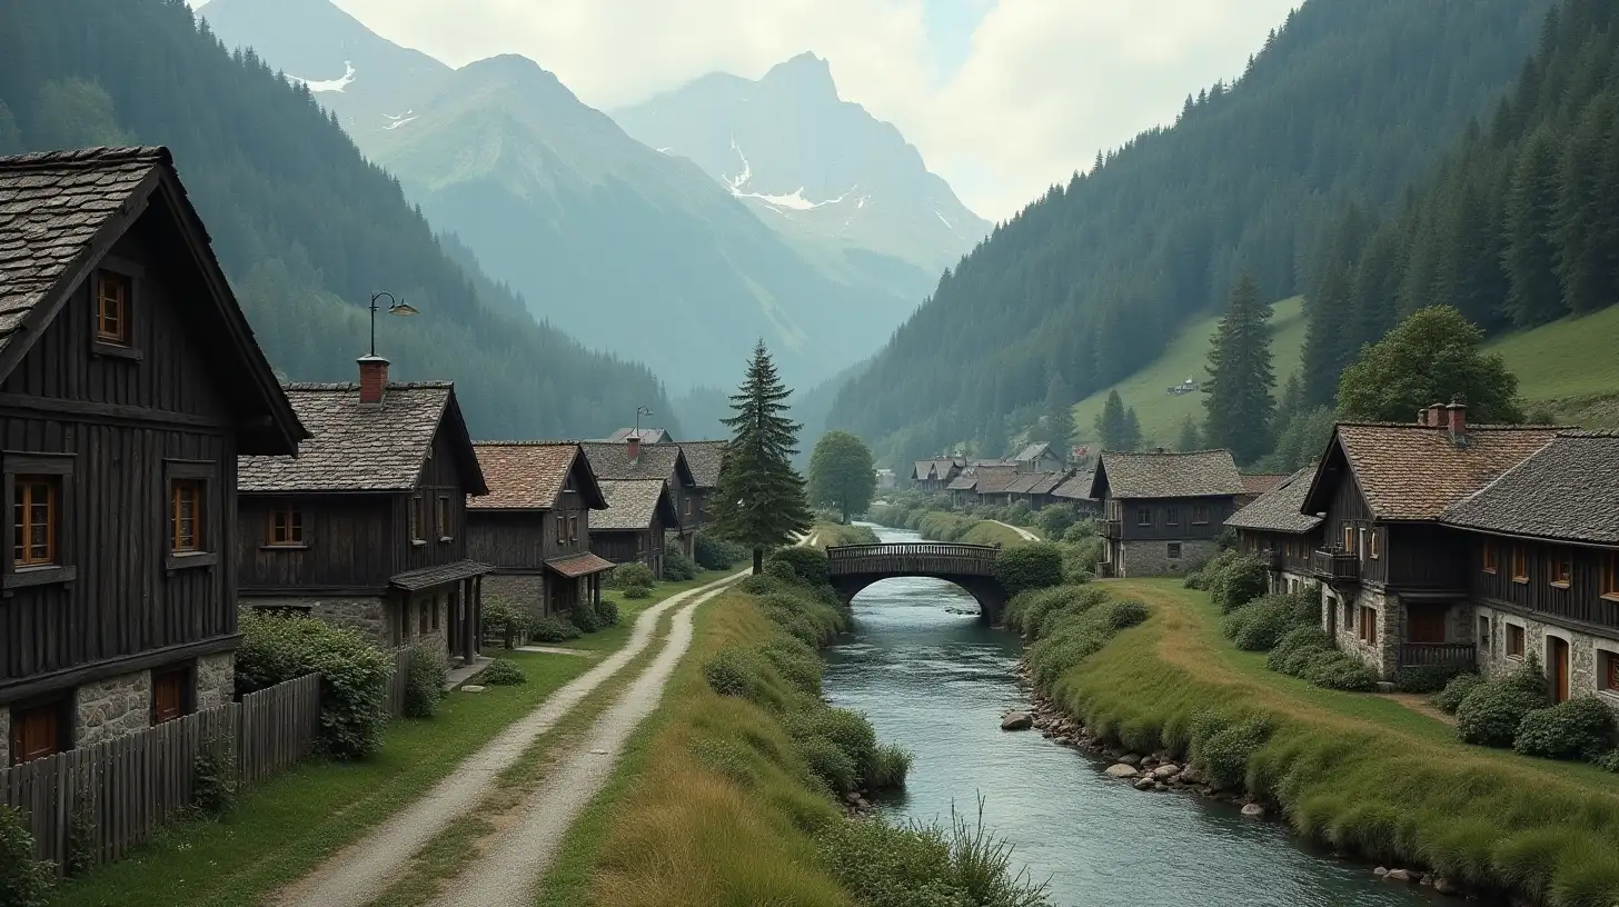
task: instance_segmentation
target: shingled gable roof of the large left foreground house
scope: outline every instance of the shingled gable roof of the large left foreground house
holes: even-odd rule
[[[118,238],[149,214],[191,251],[198,282],[183,280],[175,304],[223,340],[207,343],[204,355],[243,413],[238,450],[293,454],[308,434],[241,314],[167,147],[0,157],[0,381]]]

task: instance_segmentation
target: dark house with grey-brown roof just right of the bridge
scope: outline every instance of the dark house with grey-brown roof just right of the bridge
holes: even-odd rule
[[[1103,504],[1103,575],[1179,573],[1214,556],[1242,494],[1230,450],[1104,452],[1091,479]]]

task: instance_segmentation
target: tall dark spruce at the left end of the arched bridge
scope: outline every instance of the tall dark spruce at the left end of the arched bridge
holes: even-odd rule
[[[748,376],[730,395],[737,415],[724,419],[732,439],[709,505],[714,533],[753,549],[754,573],[764,568],[766,547],[793,541],[814,522],[805,479],[792,465],[803,426],[784,415],[790,395],[759,340]]]

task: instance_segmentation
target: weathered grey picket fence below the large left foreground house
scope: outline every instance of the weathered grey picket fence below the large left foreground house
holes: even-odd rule
[[[193,805],[199,753],[233,756],[238,781],[251,784],[308,756],[319,726],[321,675],[309,674],[241,703],[0,769],[0,805],[26,813],[37,857],[58,871],[74,824],[86,836],[83,855],[108,863]]]

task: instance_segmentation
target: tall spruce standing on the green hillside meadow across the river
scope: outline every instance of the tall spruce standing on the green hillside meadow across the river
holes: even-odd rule
[[[1229,447],[1239,463],[1251,463],[1271,449],[1276,415],[1276,371],[1271,368],[1271,306],[1260,285],[1243,275],[1230,296],[1209,347],[1209,381],[1203,434],[1211,447]]]

